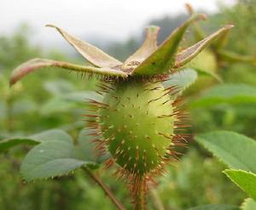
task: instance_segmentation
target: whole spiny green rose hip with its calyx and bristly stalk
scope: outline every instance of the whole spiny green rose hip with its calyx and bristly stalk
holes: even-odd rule
[[[125,176],[130,184],[134,209],[145,209],[144,194],[148,189],[148,181],[163,172],[166,162],[175,156],[173,146],[182,145],[178,140],[183,139],[179,132],[183,129],[181,121],[184,116],[176,108],[180,87],[172,82],[169,87],[164,87],[162,82],[168,79],[172,81],[172,72],[180,70],[232,27],[224,26],[201,42],[178,52],[187,28],[195,20],[204,18],[204,14],[193,15],[160,46],[157,46],[160,28],[149,26],[143,45],[124,63],[61,28],[49,25],[55,27],[92,66],[56,60],[29,60],[15,69],[10,84],[13,85],[32,71],[48,66],[89,76],[102,76],[101,89],[97,93],[103,99],[90,99],[93,113],[86,115],[86,127],[95,137],[96,150],[111,154],[106,165],[110,166],[114,162],[119,164],[117,174]]]

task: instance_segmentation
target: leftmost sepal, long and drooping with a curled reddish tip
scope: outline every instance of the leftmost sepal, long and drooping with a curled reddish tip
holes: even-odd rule
[[[11,74],[10,77],[10,85],[15,84],[18,82],[22,77],[25,77],[28,73],[32,71],[36,71],[41,68],[45,67],[58,67],[61,69],[67,69],[70,71],[77,71],[81,73],[92,73],[102,76],[109,76],[109,77],[128,77],[127,74],[123,71],[117,71],[110,68],[97,68],[93,66],[86,66],[86,65],[76,65],[67,63],[64,61],[57,61],[57,60],[45,60],[45,59],[32,59],[26,61],[22,65],[19,65]]]

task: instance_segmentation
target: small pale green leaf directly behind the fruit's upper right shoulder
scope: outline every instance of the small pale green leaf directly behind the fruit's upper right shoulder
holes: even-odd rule
[[[197,79],[198,75],[197,72],[193,69],[184,69],[183,71],[178,71],[170,75],[169,79],[163,82],[164,87],[177,87],[179,90],[175,94],[175,98],[182,94],[186,88],[189,88],[195,80]]]

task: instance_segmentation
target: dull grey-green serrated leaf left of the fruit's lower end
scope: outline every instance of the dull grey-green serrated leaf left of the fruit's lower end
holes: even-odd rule
[[[67,175],[78,167],[94,162],[77,157],[77,150],[67,141],[47,141],[30,150],[21,164],[20,172],[26,181]]]

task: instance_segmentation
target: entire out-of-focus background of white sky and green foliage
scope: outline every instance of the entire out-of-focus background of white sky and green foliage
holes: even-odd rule
[[[224,46],[234,54],[256,56],[256,1],[30,1],[1,0],[0,3],[0,140],[61,128],[76,139],[84,128],[85,90],[93,90],[96,78],[90,81],[76,74],[50,68],[26,77],[9,88],[10,72],[20,63],[42,57],[86,63],[56,31],[45,28],[48,23],[61,26],[71,34],[104,49],[119,60],[134,52],[143,42],[145,26],[161,27],[159,43],[183,22],[189,13],[184,3],[195,11],[208,14],[200,26],[205,34],[220,26],[234,24]],[[183,46],[195,43],[190,29]],[[234,56],[233,56],[234,57]],[[208,203],[240,205],[246,195],[221,171],[224,164],[197,145],[195,133],[217,129],[232,130],[256,139],[256,104],[253,99],[230,99],[237,92],[256,94],[256,62],[249,57],[235,56],[227,60],[214,48],[201,54],[192,65],[218,74],[224,83],[202,74],[185,93],[191,113],[192,134],[189,149],[183,149],[181,161],[168,168],[159,179],[149,209],[162,201],[166,209],[182,210]],[[249,59],[248,59],[249,58]],[[217,101],[207,96],[226,91]],[[102,209],[115,207],[83,171],[59,179],[25,183],[19,174],[22,158],[30,150],[18,146],[0,154],[0,209]],[[99,168],[102,179],[119,200],[131,208],[127,191],[113,177],[114,168]]]

